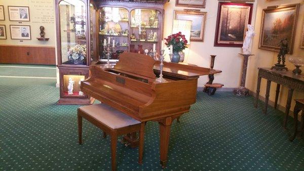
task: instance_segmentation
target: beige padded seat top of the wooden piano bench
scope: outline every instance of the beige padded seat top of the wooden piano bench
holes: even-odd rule
[[[82,106],[79,109],[92,116],[99,122],[107,125],[111,129],[119,129],[129,125],[141,123],[140,121],[106,104]]]

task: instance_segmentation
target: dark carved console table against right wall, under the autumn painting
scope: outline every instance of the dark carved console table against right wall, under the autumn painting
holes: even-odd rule
[[[277,83],[276,90],[276,100],[275,100],[275,108],[278,105],[278,97],[280,93],[280,87],[285,86],[288,88],[288,97],[286,103],[285,117],[283,122],[283,127],[286,128],[287,117],[289,114],[290,103],[292,99],[293,91],[304,92],[304,75],[295,75],[292,71],[279,71],[272,70],[271,68],[258,68],[258,76],[257,76],[257,87],[256,87],[256,99],[254,103],[254,107],[257,108],[257,102],[260,92],[261,78],[267,79],[267,88],[265,95],[265,106],[263,109],[264,114],[267,113],[267,106],[269,100],[269,92],[270,92],[270,84],[271,81]]]

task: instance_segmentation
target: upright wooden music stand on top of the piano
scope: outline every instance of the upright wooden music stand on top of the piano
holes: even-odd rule
[[[119,61],[114,66],[114,69],[155,79],[156,75],[153,67],[156,62],[146,55],[125,52],[119,56]]]

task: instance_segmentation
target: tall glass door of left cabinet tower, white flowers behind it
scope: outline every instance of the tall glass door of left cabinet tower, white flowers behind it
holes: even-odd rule
[[[59,4],[61,63],[86,65],[87,30],[86,5],[80,0],[65,0]]]

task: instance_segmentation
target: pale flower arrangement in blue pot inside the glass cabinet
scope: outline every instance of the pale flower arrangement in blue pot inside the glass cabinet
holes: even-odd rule
[[[67,52],[68,62],[71,64],[86,64],[86,45],[76,45]]]

